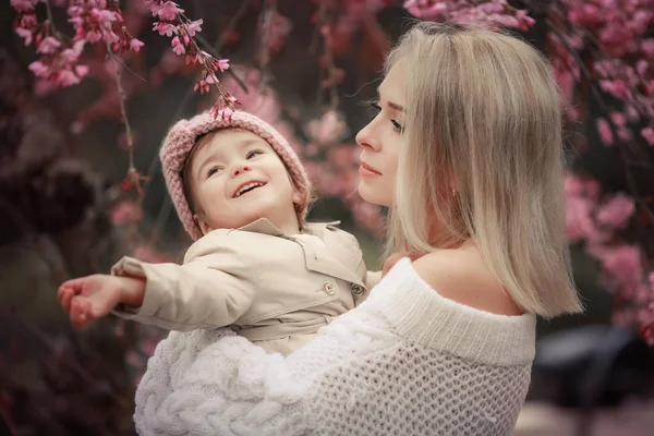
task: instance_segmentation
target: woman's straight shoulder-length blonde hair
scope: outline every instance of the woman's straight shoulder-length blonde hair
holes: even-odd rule
[[[387,252],[471,238],[523,311],[581,312],[565,232],[560,94],[547,61],[514,37],[436,23],[404,34],[387,72],[400,60],[405,122]],[[429,240],[433,217],[446,230],[439,240]]]

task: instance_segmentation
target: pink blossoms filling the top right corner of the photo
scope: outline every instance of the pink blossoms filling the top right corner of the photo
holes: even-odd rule
[[[640,133],[654,145],[654,38],[646,37],[654,0],[559,0],[553,16],[555,25],[571,29],[573,49],[592,53],[588,65],[602,90],[623,102],[620,113],[597,120],[602,141],[628,142]],[[634,128],[643,123],[650,126]]]

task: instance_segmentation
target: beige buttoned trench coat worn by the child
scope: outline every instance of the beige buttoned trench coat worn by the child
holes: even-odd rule
[[[114,275],[144,277],[141,307],[123,318],[169,330],[230,326],[268,352],[288,354],[360,304],[380,278],[367,272],[356,239],[332,223],[284,235],[267,219],[196,241],[183,265],[123,257]]]

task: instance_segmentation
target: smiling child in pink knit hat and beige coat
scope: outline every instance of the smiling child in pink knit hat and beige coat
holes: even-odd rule
[[[59,301],[76,326],[113,313],[170,330],[230,326],[288,354],[361,303],[377,274],[334,223],[305,223],[310,182],[287,141],[258,118],[203,113],[160,152],[178,215],[195,240],[183,265],[123,257],[111,275],[69,280]]]

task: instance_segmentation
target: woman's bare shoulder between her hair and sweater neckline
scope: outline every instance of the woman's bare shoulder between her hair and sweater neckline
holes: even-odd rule
[[[476,249],[440,250],[413,262],[413,268],[440,295],[480,311],[522,315]]]

